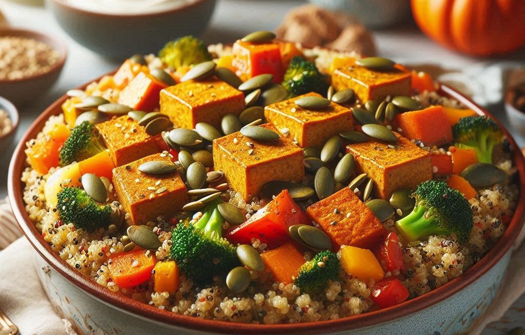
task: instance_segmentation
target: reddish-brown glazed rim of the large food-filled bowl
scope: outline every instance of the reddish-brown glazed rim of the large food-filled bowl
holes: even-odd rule
[[[114,73],[114,71],[109,72],[106,75],[111,75],[112,73]],[[103,76],[95,80],[99,80],[102,77]],[[79,88],[83,89],[86,86],[87,84],[80,86]],[[106,303],[110,307],[127,312],[135,317],[166,323],[170,324],[171,326],[185,329],[227,334],[244,334],[257,331],[261,334],[287,333],[303,335],[318,334],[327,329],[337,332],[375,326],[377,324],[390,322],[411,315],[412,313],[433,306],[472,284],[472,282],[476,281],[496,263],[498,263],[498,261],[508,252],[514,240],[518,236],[518,233],[521,231],[523,224],[525,223],[525,157],[521,154],[520,148],[517,146],[516,142],[507,129],[504,128],[502,124],[489,112],[477,106],[477,104],[472,102],[472,100],[461,95],[461,93],[446,85],[440,85],[439,93],[459,100],[460,102],[464,103],[467,108],[475,110],[477,114],[486,114],[488,117],[495,120],[502,128],[512,148],[514,149],[512,159],[519,173],[518,186],[520,193],[516,211],[514,212],[514,215],[505,233],[500,237],[498,242],[492,247],[492,249],[490,249],[487,255],[481,258],[481,260],[479,260],[476,264],[472,265],[467,271],[465,271],[464,274],[454,278],[453,280],[450,280],[446,284],[430,292],[427,292],[422,296],[407,300],[393,307],[366,312],[362,315],[355,315],[335,320],[287,324],[245,324],[206,320],[176,314],[171,311],[161,310],[146,303],[132,300],[131,298],[128,298],[122,294],[112,292],[98,285],[95,281],[83,276],[75,269],[72,269],[58,256],[58,254],[53,252],[49,244],[45,242],[41,234],[37,231],[36,226],[30,221],[29,216],[25,211],[25,205],[23,202],[23,185],[20,181],[26,159],[24,152],[25,143],[29,139],[36,137],[36,134],[43,128],[43,125],[49,116],[56,115],[61,112],[60,105],[68,98],[67,95],[60,97],[42,114],[40,114],[40,116],[30,125],[22,140],[19,141],[9,165],[9,201],[13,208],[17,222],[24,235],[29,240],[30,244],[36,249],[38,254],[40,254],[40,256],[43,257],[51,267],[58,271],[60,275],[64,276],[69,282],[71,282],[71,284],[76,285],[78,288],[93,296],[95,299]]]

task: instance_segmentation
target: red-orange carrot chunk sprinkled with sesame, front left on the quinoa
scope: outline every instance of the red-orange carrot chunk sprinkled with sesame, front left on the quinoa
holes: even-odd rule
[[[145,250],[134,250],[110,256],[108,268],[111,279],[123,288],[142,284],[150,279],[156,260],[152,254],[146,256]]]

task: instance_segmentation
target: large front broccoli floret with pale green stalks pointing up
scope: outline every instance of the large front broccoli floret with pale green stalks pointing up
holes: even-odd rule
[[[197,222],[180,223],[172,232],[171,257],[197,285],[240,265],[235,246],[222,237],[224,218],[217,204],[210,203]]]

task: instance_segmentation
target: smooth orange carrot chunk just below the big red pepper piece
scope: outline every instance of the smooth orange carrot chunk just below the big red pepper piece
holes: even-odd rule
[[[261,257],[274,279],[285,284],[295,280],[299,274],[299,268],[304,264],[302,253],[292,242],[283,244],[276,249],[268,250],[262,253]]]

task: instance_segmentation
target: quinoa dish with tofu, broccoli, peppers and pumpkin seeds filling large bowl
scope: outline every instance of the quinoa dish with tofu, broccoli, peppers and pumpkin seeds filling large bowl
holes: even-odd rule
[[[27,142],[24,202],[72,268],[204,319],[343,318],[421,296],[505,232],[496,122],[424,72],[256,32],[186,36],[71,90]]]

